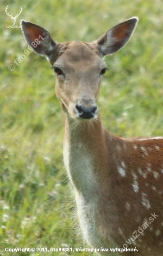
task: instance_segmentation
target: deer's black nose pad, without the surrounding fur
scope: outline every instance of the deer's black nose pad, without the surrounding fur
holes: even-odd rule
[[[84,108],[82,105],[77,104],[76,110],[80,118],[90,119],[96,114],[97,106],[92,106],[91,108]]]

